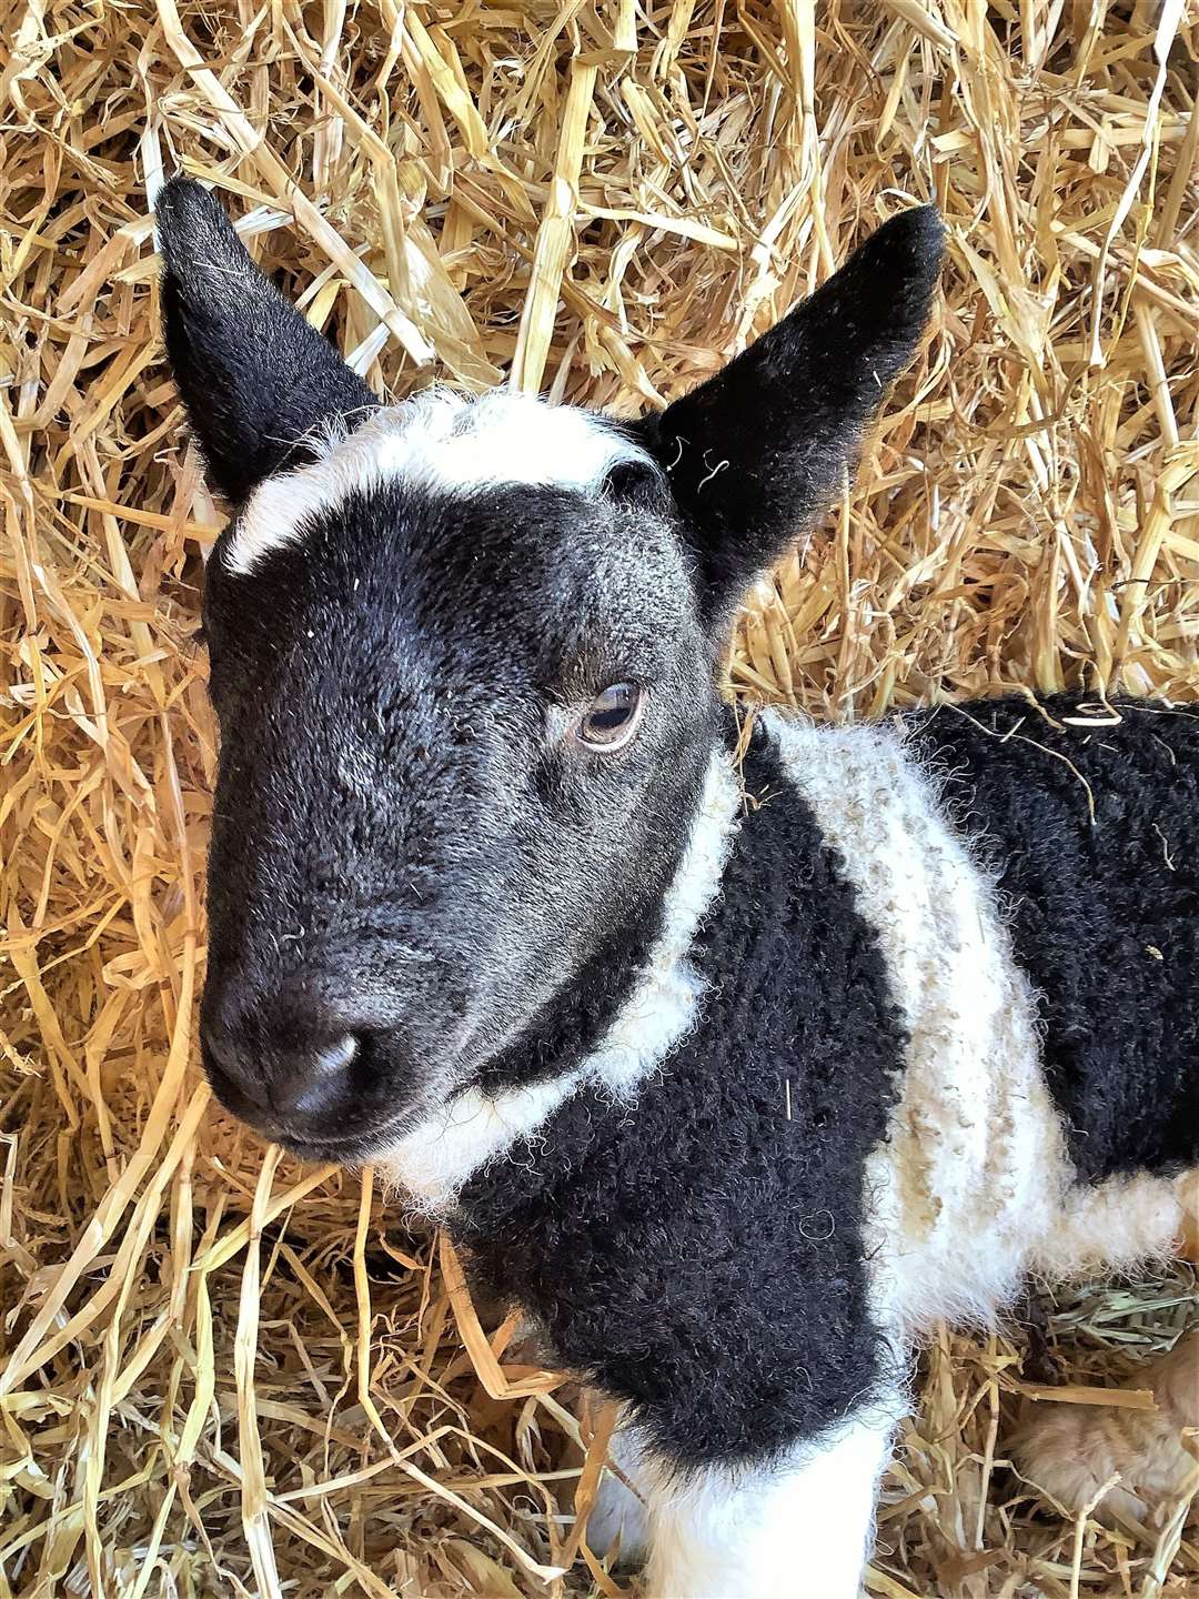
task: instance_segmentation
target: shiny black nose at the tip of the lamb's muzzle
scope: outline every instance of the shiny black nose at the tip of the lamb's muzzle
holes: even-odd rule
[[[264,1036],[257,1028],[205,1028],[205,1065],[217,1095],[237,1115],[280,1132],[313,1122],[347,1100],[358,1055],[353,1033]]]

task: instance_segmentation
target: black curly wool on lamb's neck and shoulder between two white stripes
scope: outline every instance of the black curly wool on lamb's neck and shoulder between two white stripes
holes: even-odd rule
[[[743,771],[750,814],[692,951],[700,1027],[633,1108],[574,1095],[451,1217],[480,1286],[695,1465],[825,1431],[886,1366],[862,1172],[903,1030],[874,932],[764,737]]]

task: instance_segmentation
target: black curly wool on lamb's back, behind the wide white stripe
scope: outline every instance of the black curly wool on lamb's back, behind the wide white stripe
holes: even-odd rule
[[[946,705],[910,750],[994,873],[1074,1172],[1173,1172],[1199,1162],[1199,718],[1042,712]]]

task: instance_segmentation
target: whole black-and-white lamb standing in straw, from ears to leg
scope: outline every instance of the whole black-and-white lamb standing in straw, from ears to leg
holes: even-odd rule
[[[635,422],[384,406],[201,187],[157,227],[233,508],[216,1094],[385,1170],[623,1402],[638,1500],[593,1532],[644,1543],[652,1599],[849,1599],[930,1322],[1181,1233],[1199,721],[764,712],[734,761],[731,620],[914,350],[930,208]]]

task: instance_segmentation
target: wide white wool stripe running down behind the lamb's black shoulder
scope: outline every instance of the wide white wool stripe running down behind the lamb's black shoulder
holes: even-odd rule
[[[900,1334],[986,1319],[1018,1287],[1070,1177],[1034,990],[994,883],[902,737],[767,720],[878,934],[910,1038],[889,1138],[866,1170],[876,1314]]]

